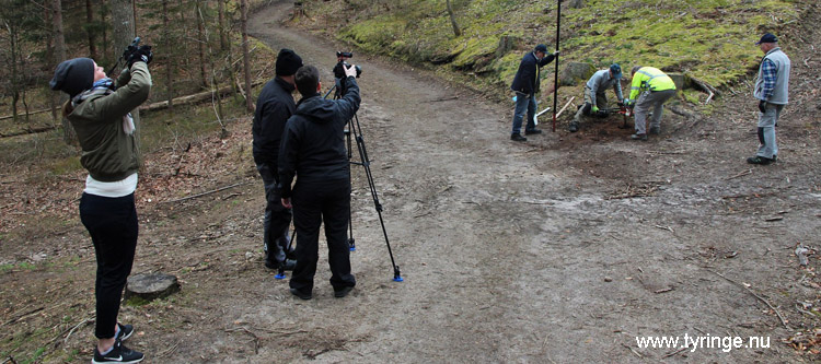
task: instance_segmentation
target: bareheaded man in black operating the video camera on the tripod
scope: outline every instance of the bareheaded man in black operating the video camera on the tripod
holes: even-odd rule
[[[304,66],[294,75],[302,99],[288,119],[279,150],[279,186],[282,206],[293,208],[297,228],[297,267],[290,292],[311,300],[319,260],[320,224],[325,223],[331,285],[334,296],[354,289],[350,247],[346,236],[350,211],[350,165],[345,149],[345,125],[359,109],[356,67],[345,70],[345,93],[340,99],[320,95],[320,72]],[[291,189],[294,175],[297,184]]]

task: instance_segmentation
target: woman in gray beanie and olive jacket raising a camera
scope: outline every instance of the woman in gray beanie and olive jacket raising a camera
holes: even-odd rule
[[[117,322],[138,235],[134,191],[141,165],[139,122],[135,124],[130,111],[148,99],[148,63],[153,57],[150,46],[137,47],[136,43],[124,55],[128,68],[116,83],[90,58],[61,62],[49,82],[51,90],[70,97],[62,115],[77,132],[82,148],[80,163],[89,172],[80,199],[80,220],[91,235],[97,262],[94,334],[99,341],[92,363],[137,363],[143,359],[142,353],[123,345],[134,327]]]

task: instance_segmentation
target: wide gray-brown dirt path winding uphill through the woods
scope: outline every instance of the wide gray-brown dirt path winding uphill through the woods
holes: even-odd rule
[[[252,34],[275,49],[296,49],[328,80],[336,48],[278,28],[273,20],[286,11],[256,14]],[[405,67],[352,60],[365,68],[359,118],[406,282],[390,281],[358,173],[357,291],[333,300],[322,282],[316,300],[301,303],[285,282],[265,280],[266,292],[256,294],[277,300],[247,297],[226,317],[308,332],[243,357],[293,360],[328,350],[319,359],[626,362],[675,351],[639,349],[636,336],[687,333],[770,340],[762,350],[675,354],[696,362],[795,359],[779,342],[788,331],[774,313],[714,271],[794,312],[777,294],[801,293],[788,287],[797,268],[786,248],[813,243],[819,231],[818,180],[801,176],[802,166],[730,178],[748,169],[742,156],[754,140],[717,130],[732,143],[716,148],[687,130],[637,144],[604,126],[609,134],[547,133],[517,144],[506,138],[509,105]],[[666,122],[681,128],[692,120],[668,113]],[[739,144],[744,152],[721,155]],[[783,221],[763,219],[779,213]],[[270,315],[257,316],[256,306]]]

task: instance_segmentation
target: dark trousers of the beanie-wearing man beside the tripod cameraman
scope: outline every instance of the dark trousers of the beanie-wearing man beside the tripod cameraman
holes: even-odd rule
[[[257,164],[256,171],[265,184],[265,233],[263,235],[265,260],[277,266],[286,259],[288,250],[288,226],[291,224],[291,210],[282,207],[277,187],[276,171],[269,164]]]

